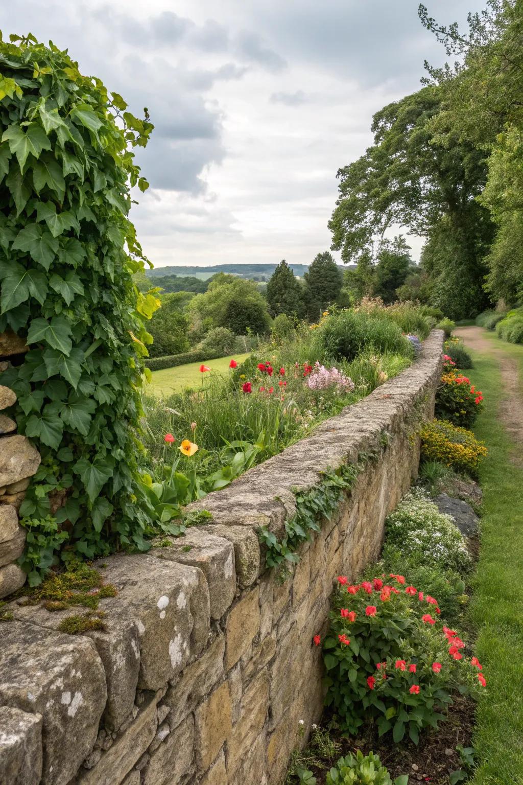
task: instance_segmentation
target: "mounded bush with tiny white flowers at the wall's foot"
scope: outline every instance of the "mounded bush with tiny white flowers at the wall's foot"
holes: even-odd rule
[[[421,488],[412,488],[385,524],[386,549],[394,548],[404,557],[415,557],[418,564],[444,570],[459,572],[470,567],[465,540],[452,517],[440,513]]]

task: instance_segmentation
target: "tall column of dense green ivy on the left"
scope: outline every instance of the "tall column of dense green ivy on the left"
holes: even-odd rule
[[[2,384],[42,455],[20,515],[46,521],[55,562],[59,548],[147,548],[140,389],[159,302],[133,283],[147,260],[128,215],[131,188],[148,186],[133,148],[153,127],[67,51],[0,35],[0,332],[29,347]],[[49,565],[49,542],[42,564],[37,544],[24,562],[33,582]]]

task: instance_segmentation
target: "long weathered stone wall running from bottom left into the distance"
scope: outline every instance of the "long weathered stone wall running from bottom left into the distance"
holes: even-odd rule
[[[441,344],[434,331],[397,378],[198,502],[212,513],[208,525],[99,564],[118,588],[100,601],[104,631],[72,637],[56,631],[71,611],[9,605],[2,785],[281,785],[292,749],[321,716],[312,637],[325,631],[336,575],[355,578],[378,557],[384,519],[416,474],[415,433],[434,411]],[[278,582],[264,568],[260,525],[280,535],[293,489],[371,453]]]

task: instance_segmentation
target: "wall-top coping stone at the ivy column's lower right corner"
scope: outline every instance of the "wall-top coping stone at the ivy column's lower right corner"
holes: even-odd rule
[[[197,528],[189,528],[183,537],[171,537],[169,542],[169,548],[154,548],[151,555],[199,567],[209,585],[211,618],[221,619],[236,593],[232,542]]]

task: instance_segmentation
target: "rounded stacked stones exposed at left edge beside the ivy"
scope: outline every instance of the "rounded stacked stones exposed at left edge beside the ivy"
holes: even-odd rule
[[[25,545],[18,510],[40,464],[38,451],[25,436],[16,434],[16,422],[5,414],[16,403],[13,390],[2,385],[2,371],[9,367],[6,357],[25,350],[24,341],[15,334],[0,334],[0,600],[24,586],[26,575],[15,564]]]

